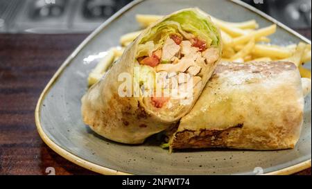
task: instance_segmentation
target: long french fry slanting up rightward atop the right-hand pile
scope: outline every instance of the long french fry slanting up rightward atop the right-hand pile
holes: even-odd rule
[[[271,35],[272,33],[275,33],[275,31],[276,31],[276,25],[273,24],[272,26],[268,26],[266,28],[261,28],[259,30],[252,32],[252,33],[248,33],[247,35],[242,35],[241,37],[236,37],[232,40],[232,42],[230,42],[227,45],[228,46],[235,46],[237,44],[245,44],[246,42],[250,41],[250,39],[252,39],[252,38],[257,40],[260,37]]]

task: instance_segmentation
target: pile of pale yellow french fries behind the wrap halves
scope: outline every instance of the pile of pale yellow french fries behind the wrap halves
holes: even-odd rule
[[[137,22],[142,28],[150,26],[161,19],[160,15],[136,15]],[[311,78],[311,71],[302,65],[311,61],[311,44],[300,42],[288,46],[270,44],[269,35],[276,32],[275,24],[259,28],[257,21],[227,22],[215,17],[211,20],[220,28],[223,39],[223,61],[227,62],[270,62],[288,61],[296,64],[302,78]],[[141,30],[127,33],[120,37],[121,47],[113,47],[107,56],[98,63],[89,74],[89,86],[97,82],[114,60],[117,60],[125,49],[141,33]]]

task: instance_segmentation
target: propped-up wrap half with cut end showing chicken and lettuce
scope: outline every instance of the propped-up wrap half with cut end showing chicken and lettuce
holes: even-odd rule
[[[112,141],[143,143],[190,111],[220,53],[220,31],[208,15],[174,12],[146,28],[87,91],[83,120]]]

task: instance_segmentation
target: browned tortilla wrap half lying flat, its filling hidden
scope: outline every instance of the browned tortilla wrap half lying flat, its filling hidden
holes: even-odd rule
[[[293,148],[300,137],[303,109],[295,64],[220,63],[196,105],[180,120],[169,146]]]

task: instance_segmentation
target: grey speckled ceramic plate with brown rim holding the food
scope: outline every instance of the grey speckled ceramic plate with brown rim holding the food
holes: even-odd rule
[[[83,64],[83,59],[117,46],[121,35],[138,30],[137,13],[166,15],[194,6],[227,21],[256,19],[261,27],[275,22],[279,27],[270,37],[273,44],[302,40],[311,43],[263,13],[236,1],[134,1],[87,37],[44,89],[35,119],[47,145],[69,161],[102,174],[255,174],[261,169],[264,174],[291,174],[311,166],[311,93],[306,98],[302,135],[293,150],[192,150],[169,154],[153,140],[144,145],[121,145],[94,134],[83,124],[80,98],[87,90],[87,74],[94,68],[94,64]],[[311,62],[307,66],[311,69]]]

